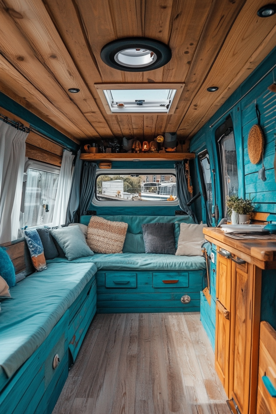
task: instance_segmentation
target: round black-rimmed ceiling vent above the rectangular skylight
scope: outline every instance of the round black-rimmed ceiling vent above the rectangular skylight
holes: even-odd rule
[[[165,43],[144,37],[115,40],[101,50],[101,59],[106,65],[126,72],[158,69],[171,57],[170,48]]]

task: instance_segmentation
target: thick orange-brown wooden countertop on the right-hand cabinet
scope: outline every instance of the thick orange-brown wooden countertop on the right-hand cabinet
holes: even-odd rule
[[[205,238],[261,269],[276,269],[276,242],[272,240],[235,240],[220,228],[204,227]]]

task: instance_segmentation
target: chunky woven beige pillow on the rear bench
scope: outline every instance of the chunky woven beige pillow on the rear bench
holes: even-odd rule
[[[87,229],[86,242],[97,253],[122,253],[127,233],[127,223],[109,221],[92,216]]]

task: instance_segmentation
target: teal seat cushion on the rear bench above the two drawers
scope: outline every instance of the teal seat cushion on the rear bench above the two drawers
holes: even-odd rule
[[[67,259],[55,258],[47,260],[47,263],[66,261]],[[146,270],[151,272],[169,270],[170,272],[178,272],[206,269],[206,260],[203,256],[158,255],[155,253],[140,253],[139,255],[137,253],[112,253],[109,255],[99,253],[90,258],[74,260],[74,263],[86,262],[94,263],[98,270]]]

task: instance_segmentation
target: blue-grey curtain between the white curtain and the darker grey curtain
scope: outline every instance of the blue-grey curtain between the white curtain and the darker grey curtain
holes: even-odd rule
[[[77,153],[77,159],[75,162],[75,168],[72,178],[70,197],[67,206],[66,212],[66,225],[70,223],[76,223],[78,220],[77,211],[79,209],[79,200],[80,200],[80,182],[82,175],[82,160],[79,159],[81,150],[79,149]]]

